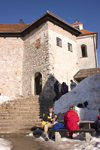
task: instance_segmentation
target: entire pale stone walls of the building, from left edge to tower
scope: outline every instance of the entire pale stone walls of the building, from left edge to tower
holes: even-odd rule
[[[57,46],[57,39],[62,46]],[[88,40],[87,40],[88,39]],[[72,44],[72,51],[68,50]],[[80,58],[80,45],[88,45],[88,58]],[[92,45],[91,45],[92,44]],[[91,46],[91,49],[90,49]],[[35,74],[42,75],[41,99],[53,99],[54,82],[70,80],[79,69],[95,67],[93,38],[80,39],[47,21],[23,38],[0,37],[0,93],[9,97],[35,95]]]

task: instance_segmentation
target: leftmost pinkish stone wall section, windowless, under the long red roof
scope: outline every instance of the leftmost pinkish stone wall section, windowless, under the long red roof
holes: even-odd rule
[[[0,93],[21,95],[23,41],[16,37],[0,37]]]

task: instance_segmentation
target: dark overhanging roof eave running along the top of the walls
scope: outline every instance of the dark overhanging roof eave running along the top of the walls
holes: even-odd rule
[[[35,22],[33,22],[32,24],[30,24],[29,26],[27,26],[26,28],[24,28],[21,31],[16,31],[16,32],[0,32],[0,36],[1,35],[14,35],[14,34],[19,34],[20,36],[25,36],[26,34],[30,33],[32,30],[34,30],[35,28],[37,28],[38,26],[40,26],[41,24],[43,24],[46,21],[51,21],[54,24],[57,24],[58,26],[61,26],[63,29],[68,30],[70,33],[79,36],[80,34],[82,34],[81,31],[79,31],[78,29],[72,27],[71,25],[67,24],[65,21],[61,20],[60,18],[54,16],[53,14],[49,13],[49,11],[47,11],[44,15],[42,15],[41,17],[39,17]],[[15,35],[14,35],[15,36]]]

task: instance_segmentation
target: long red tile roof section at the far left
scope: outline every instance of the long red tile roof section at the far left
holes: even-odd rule
[[[27,28],[30,24],[0,24],[0,32],[20,32]]]

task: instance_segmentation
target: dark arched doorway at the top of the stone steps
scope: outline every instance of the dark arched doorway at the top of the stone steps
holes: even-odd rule
[[[40,95],[42,92],[42,75],[37,72],[35,74],[35,95]]]

